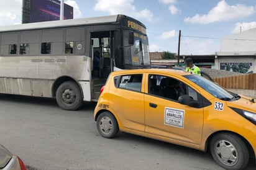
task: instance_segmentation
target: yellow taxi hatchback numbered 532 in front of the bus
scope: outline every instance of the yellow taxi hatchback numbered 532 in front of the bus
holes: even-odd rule
[[[256,154],[256,104],[199,75],[174,69],[112,72],[94,109],[98,132],[119,131],[210,150],[226,169]]]

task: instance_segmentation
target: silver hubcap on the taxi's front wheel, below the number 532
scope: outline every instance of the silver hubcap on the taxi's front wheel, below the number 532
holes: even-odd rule
[[[226,140],[220,140],[215,145],[215,153],[219,161],[227,166],[234,165],[239,159],[237,150],[232,143]]]

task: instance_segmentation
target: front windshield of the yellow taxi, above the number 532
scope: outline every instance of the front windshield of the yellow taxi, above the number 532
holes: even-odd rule
[[[223,89],[221,86],[217,85],[213,81],[209,81],[198,75],[187,75],[184,76],[185,78],[189,79],[193,83],[196,83],[198,86],[202,87],[204,90],[208,91],[214,97],[221,99],[223,101],[231,101],[232,99],[239,99],[237,95],[232,94],[232,92]]]

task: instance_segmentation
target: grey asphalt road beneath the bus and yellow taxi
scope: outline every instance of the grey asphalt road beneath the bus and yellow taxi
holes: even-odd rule
[[[0,143],[30,170],[222,169],[209,153],[127,133],[99,136],[95,105],[71,112],[53,99],[0,95]]]

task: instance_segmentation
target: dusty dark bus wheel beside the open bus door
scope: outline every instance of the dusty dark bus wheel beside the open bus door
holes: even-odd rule
[[[66,81],[57,89],[57,103],[62,109],[77,110],[83,102],[80,87],[74,81]]]

